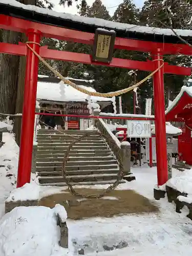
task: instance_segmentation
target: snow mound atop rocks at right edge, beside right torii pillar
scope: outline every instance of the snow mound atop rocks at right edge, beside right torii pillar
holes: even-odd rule
[[[168,180],[166,185],[192,196],[192,169],[185,170],[175,178]]]

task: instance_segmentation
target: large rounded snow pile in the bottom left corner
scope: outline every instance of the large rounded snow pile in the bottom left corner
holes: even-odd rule
[[[0,221],[1,256],[66,256],[58,245],[60,229],[56,214],[66,214],[63,206],[16,207]]]

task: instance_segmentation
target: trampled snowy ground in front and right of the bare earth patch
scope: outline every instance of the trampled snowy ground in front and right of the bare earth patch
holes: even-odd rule
[[[136,167],[132,171],[136,181],[121,184],[119,188],[126,186],[154,201],[160,208],[159,214],[68,220],[71,248],[75,248],[75,253],[78,248],[84,248],[90,256],[191,255],[192,222],[186,218],[187,210],[177,214],[175,205],[168,203],[167,199],[154,200],[153,187],[157,182],[155,167]],[[173,175],[177,174],[174,169]],[[126,248],[104,252],[104,248],[109,250],[114,245],[126,245]],[[96,253],[96,250],[99,252]]]

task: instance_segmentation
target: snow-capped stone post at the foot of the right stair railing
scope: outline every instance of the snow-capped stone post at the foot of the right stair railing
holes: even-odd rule
[[[131,172],[131,145],[129,142],[121,143],[120,154],[123,161],[123,174],[128,175]]]

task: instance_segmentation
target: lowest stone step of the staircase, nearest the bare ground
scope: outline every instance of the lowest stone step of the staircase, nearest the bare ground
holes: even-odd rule
[[[117,178],[116,174],[94,174],[94,175],[74,175],[66,177],[68,182],[82,182],[82,181],[109,181],[115,180]],[[56,182],[64,182],[63,177],[52,176],[52,177],[38,177],[38,181],[40,184],[42,183],[56,183]]]

